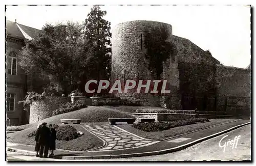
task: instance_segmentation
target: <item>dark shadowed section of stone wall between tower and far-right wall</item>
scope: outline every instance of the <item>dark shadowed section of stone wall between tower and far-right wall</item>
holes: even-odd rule
[[[214,111],[215,65],[179,62],[182,109]]]

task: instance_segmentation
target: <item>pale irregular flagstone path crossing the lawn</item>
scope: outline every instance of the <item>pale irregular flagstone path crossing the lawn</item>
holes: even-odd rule
[[[99,149],[100,151],[137,148],[158,143],[158,141],[148,141],[146,139],[142,139],[141,137],[133,135],[129,132],[120,130],[119,128],[114,127],[113,125],[83,126],[106,142],[107,145]]]

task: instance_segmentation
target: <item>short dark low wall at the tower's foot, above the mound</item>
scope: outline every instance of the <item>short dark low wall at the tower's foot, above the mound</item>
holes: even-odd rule
[[[121,101],[115,98],[91,97],[91,99],[92,99],[92,105],[94,106],[121,104]]]

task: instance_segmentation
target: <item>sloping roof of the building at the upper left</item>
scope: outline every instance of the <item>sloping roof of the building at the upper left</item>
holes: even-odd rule
[[[6,35],[17,39],[31,39],[41,30],[6,20]]]

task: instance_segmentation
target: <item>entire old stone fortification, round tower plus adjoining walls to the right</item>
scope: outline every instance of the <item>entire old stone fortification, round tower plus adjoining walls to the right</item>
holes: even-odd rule
[[[117,24],[112,32],[111,82],[152,80],[148,69],[148,41],[146,33],[153,34],[152,41],[159,42],[158,30],[164,30],[165,41],[170,41],[177,50],[163,62],[162,80],[167,80],[170,94],[117,93],[116,97],[138,102],[142,105],[162,106],[168,109],[228,111],[231,115],[250,113],[250,77],[247,69],[226,67],[188,39],[172,33],[172,25],[155,21],[129,21]],[[155,36],[154,36],[155,35]],[[161,41],[164,43],[164,41]],[[154,46],[154,45],[153,45]],[[158,66],[157,66],[158,67]],[[144,82],[145,84],[145,82]],[[123,89],[122,89],[123,90]],[[142,89],[144,90],[144,89]]]

